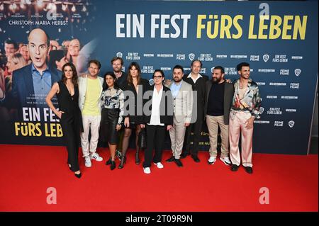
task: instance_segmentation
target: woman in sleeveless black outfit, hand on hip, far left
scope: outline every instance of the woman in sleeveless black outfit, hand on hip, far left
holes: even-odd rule
[[[53,106],[51,99],[57,94],[59,110]],[[79,87],[77,85],[77,69],[74,64],[67,63],[62,67],[62,79],[53,84],[47,98],[47,105],[60,118],[63,136],[67,145],[67,164],[77,178],[82,176],[79,170],[79,141],[83,128],[79,109]]]

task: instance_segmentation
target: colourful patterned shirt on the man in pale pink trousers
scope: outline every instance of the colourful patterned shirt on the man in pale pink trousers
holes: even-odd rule
[[[235,81],[234,89],[232,109],[235,111],[248,111],[252,116],[260,118],[259,108],[262,105],[262,98],[259,94],[258,85],[252,79],[249,79],[246,92],[242,98],[240,98],[240,79]]]

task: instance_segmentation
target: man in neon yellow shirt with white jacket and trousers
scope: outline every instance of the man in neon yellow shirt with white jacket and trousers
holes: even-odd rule
[[[96,152],[101,122],[103,78],[98,76],[101,69],[101,63],[99,61],[90,60],[88,65],[89,74],[86,77],[79,77],[79,108],[82,111],[84,128],[84,132],[81,134],[84,162],[86,167],[91,167],[91,159],[95,159],[98,162],[103,160]],[[91,140],[89,141],[90,129]]]

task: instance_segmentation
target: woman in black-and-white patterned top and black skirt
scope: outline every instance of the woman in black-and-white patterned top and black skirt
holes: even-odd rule
[[[116,168],[114,159],[118,144],[118,130],[121,130],[124,113],[124,94],[118,87],[113,72],[106,72],[104,75],[101,104],[101,139],[108,142],[111,157],[106,164],[111,164],[111,170],[113,170]]]

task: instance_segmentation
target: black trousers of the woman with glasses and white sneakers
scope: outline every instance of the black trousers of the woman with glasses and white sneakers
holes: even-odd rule
[[[150,167],[153,162],[162,161],[162,153],[164,140],[166,135],[166,126],[161,125],[146,125],[147,135],[147,147],[145,149],[145,159],[143,167]],[[155,149],[155,155],[152,157],[153,149]]]

